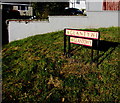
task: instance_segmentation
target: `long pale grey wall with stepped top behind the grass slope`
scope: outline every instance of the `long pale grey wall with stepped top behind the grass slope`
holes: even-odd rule
[[[100,28],[118,25],[118,11],[87,12],[87,16],[49,16],[49,21],[9,21],[9,42],[64,28]]]

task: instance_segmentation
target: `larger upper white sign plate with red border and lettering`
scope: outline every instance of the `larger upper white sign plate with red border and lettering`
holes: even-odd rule
[[[66,29],[65,35],[91,38],[91,39],[99,38],[99,32],[95,32],[95,31],[82,31],[82,30]]]

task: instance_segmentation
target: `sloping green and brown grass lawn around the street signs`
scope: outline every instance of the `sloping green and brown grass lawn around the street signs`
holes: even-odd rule
[[[96,63],[90,64],[89,48],[72,44],[74,55],[63,55],[63,31],[3,46],[3,102],[119,101],[120,28],[88,30],[100,31],[101,40],[113,43],[106,52],[100,51],[98,68]]]

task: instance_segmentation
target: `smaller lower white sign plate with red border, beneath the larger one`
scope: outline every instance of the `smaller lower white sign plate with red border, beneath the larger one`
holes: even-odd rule
[[[70,43],[80,44],[80,45],[85,45],[85,46],[90,46],[90,47],[92,46],[92,40],[76,38],[76,37],[70,37]]]

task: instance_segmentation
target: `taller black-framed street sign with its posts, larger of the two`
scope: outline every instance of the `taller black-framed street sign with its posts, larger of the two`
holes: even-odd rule
[[[73,33],[74,35],[73,34],[72,35],[66,34],[67,30],[71,30],[71,32],[73,30],[74,31],[74,33]],[[78,31],[78,32],[76,33],[76,31]],[[96,33],[96,38],[90,37],[90,36],[75,35],[75,33],[76,34],[78,34],[78,33],[80,34],[80,32],[83,33],[83,35],[85,35],[86,32],[91,33],[91,35],[94,35],[93,33]],[[71,42],[70,42],[70,37],[81,38],[81,39],[86,39],[86,40],[92,40],[92,46],[91,46],[91,63],[93,61],[95,61],[93,59],[93,44],[94,44],[94,40],[97,41],[97,44],[96,44],[96,47],[97,47],[96,48],[97,49],[97,59],[96,59],[96,62],[97,62],[97,67],[98,67],[100,32],[99,31],[91,31],[91,30],[80,30],[80,29],[65,28],[64,29],[64,55],[66,55],[68,57],[71,57]],[[67,43],[67,41],[68,41],[68,43]],[[68,44],[68,51],[67,51],[67,44]],[[82,45],[82,44],[77,44],[77,45]],[[87,46],[87,45],[83,45],[83,46]]]

